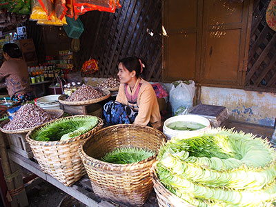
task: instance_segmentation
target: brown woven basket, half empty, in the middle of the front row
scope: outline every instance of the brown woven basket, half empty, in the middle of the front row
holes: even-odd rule
[[[118,124],[103,128],[79,147],[91,186],[103,199],[130,206],[142,206],[152,191],[150,168],[166,136],[155,128],[135,124]],[[133,164],[110,164],[99,160],[115,148],[137,147],[156,154]]]

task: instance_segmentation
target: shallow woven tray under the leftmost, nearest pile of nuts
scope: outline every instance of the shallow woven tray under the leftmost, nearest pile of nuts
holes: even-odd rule
[[[49,112],[50,115],[55,115],[56,116],[55,119],[59,119],[60,117],[63,116],[63,113],[64,113],[63,110],[61,110],[61,109],[56,109],[56,110],[55,109],[45,109],[45,110],[47,112]],[[1,124],[0,124],[1,132],[6,133],[6,134],[19,134],[19,133],[26,133],[34,128],[34,127],[30,127],[30,128],[20,129],[20,130],[5,130],[5,129],[3,129],[3,126],[8,124],[9,121],[10,121],[10,119],[7,119],[7,120],[1,122]],[[37,126],[35,126],[35,127],[37,127]]]

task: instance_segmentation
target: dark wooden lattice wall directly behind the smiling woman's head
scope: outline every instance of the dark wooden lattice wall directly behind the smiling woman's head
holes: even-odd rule
[[[90,57],[99,71],[93,77],[113,77],[119,59],[137,56],[146,63],[144,78],[161,81],[161,0],[121,0],[116,12],[83,14],[81,50],[75,54],[78,70]]]

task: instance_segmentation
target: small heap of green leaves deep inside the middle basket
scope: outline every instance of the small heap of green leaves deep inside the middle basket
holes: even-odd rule
[[[155,155],[154,151],[146,150],[144,148],[115,148],[115,150],[106,153],[106,155],[101,158],[101,161],[112,164],[132,164],[144,159],[148,159],[153,155]]]

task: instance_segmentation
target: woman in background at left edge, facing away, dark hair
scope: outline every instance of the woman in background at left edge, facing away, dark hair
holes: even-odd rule
[[[5,79],[8,95],[12,101],[23,103],[32,101],[34,95],[28,77],[28,67],[21,59],[22,54],[16,43],[6,43],[3,46],[3,56],[6,61],[0,68],[0,81]]]

